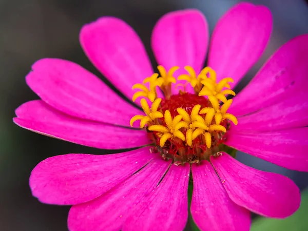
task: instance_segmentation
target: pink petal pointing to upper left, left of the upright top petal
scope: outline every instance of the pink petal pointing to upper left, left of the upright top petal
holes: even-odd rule
[[[85,25],[80,43],[93,65],[128,99],[132,85],[153,74],[139,36],[119,18],[101,17]]]

